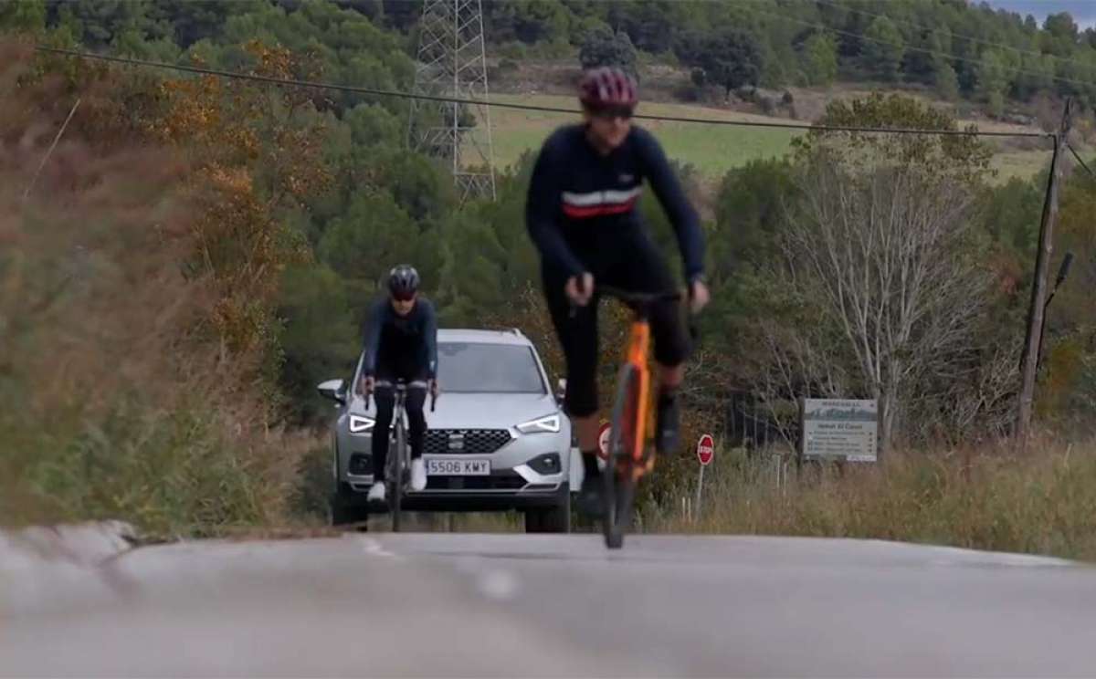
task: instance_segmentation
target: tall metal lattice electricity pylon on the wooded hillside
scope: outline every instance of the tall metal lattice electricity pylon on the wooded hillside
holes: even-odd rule
[[[419,23],[415,94],[487,101],[481,0],[424,0]],[[464,203],[495,197],[488,106],[411,100],[408,143],[442,158]]]

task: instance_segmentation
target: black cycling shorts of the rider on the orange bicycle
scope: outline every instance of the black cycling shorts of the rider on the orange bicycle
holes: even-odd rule
[[[636,292],[671,292],[676,289],[674,277],[662,254],[647,235],[632,234],[621,239],[619,248],[609,253],[582,256],[598,284]],[[545,299],[551,313],[556,334],[567,359],[567,410],[575,417],[597,412],[597,296],[590,304],[575,310],[564,292],[568,275],[550,266],[541,269]],[[654,341],[654,359],[662,366],[674,367],[689,354],[689,338],[681,314],[681,302],[663,301],[653,306],[649,321]],[[624,347],[621,347],[623,350]]]

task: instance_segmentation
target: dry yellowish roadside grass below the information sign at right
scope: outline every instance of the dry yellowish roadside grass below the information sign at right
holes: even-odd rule
[[[905,453],[886,467],[801,470],[717,454],[699,521],[654,531],[848,537],[1096,560],[1096,441]],[[688,494],[682,488],[680,495]]]

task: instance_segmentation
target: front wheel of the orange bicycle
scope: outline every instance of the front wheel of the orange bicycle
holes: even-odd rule
[[[609,549],[624,546],[624,536],[631,527],[631,508],[636,498],[631,451],[636,441],[638,413],[639,371],[636,366],[625,364],[617,378],[617,392],[609,421],[609,453],[602,473],[602,499],[605,504],[602,525],[605,545]]]

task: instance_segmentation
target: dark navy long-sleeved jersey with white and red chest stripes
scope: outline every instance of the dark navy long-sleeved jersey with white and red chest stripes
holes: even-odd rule
[[[544,264],[571,276],[595,271],[597,258],[605,256],[600,253],[641,233],[637,203],[644,181],[674,228],[685,275],[700,274],[704,234],[696,210],[658,140],[635,125],[605,156],[590,143],[583,125],[561,127],[545,141],[525,206],[526,226]]]

